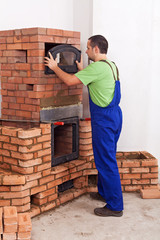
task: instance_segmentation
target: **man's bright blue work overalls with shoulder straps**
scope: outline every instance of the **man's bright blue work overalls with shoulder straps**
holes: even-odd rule
[[[111,65],[110,67],[112,69]],[[115,75],[114,79],[114,97],[107,107],[99,107],[94,104],[90,96],[89,102],[92,145],[98,170],[98,192],[106,200],[107,208],[113,211],[121,211],[123,210],[123,196],[116,160],[117,141],[122,128],[122,111],[119,107],[121,92],[120,82],[116,80]]]

